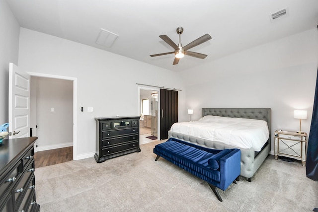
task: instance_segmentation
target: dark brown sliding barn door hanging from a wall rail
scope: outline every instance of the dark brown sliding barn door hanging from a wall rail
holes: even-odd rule
[[[178,122],[178,91],[160,89],[160,140],[168,138],[173,123]]]

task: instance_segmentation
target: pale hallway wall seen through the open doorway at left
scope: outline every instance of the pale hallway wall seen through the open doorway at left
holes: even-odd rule
[[[32,127],[37,136],[38,151],[73,145],[73,81],[47,77],[31,77],[36,92],[36,122]],[[32,93],[31,91],[31,93]],[[54,108],[54,112],[51,112]]]

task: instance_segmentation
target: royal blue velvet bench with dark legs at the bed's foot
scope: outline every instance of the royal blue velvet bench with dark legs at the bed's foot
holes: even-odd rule
[[[154,148],[159,157],[206,181],[218,200],[222,198],[216,189],[225,191],[239,181],[240,149],[210,149],[189,142],[170,138]]]

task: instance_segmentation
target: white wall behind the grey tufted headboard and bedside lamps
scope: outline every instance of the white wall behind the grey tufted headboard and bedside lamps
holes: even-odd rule
[[[193,108],[194,120],[201,117],[203,107],[262,107],[272,109],[272,132],[296,131],[299,120],[294,119],[294,110],[305,109],[308,119],[302,120],[302,130],[309,133],[317,68],[318,30],[314,28],[229,55],[196,68],[196,74],[190,70],[181,76],[187,84],[187,107]]]

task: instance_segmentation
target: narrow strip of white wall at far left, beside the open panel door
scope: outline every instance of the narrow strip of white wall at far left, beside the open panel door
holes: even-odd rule
[[[5,0],[0,0],[0,125],[8,122],[9,63],[18,64],[20,26]]]

